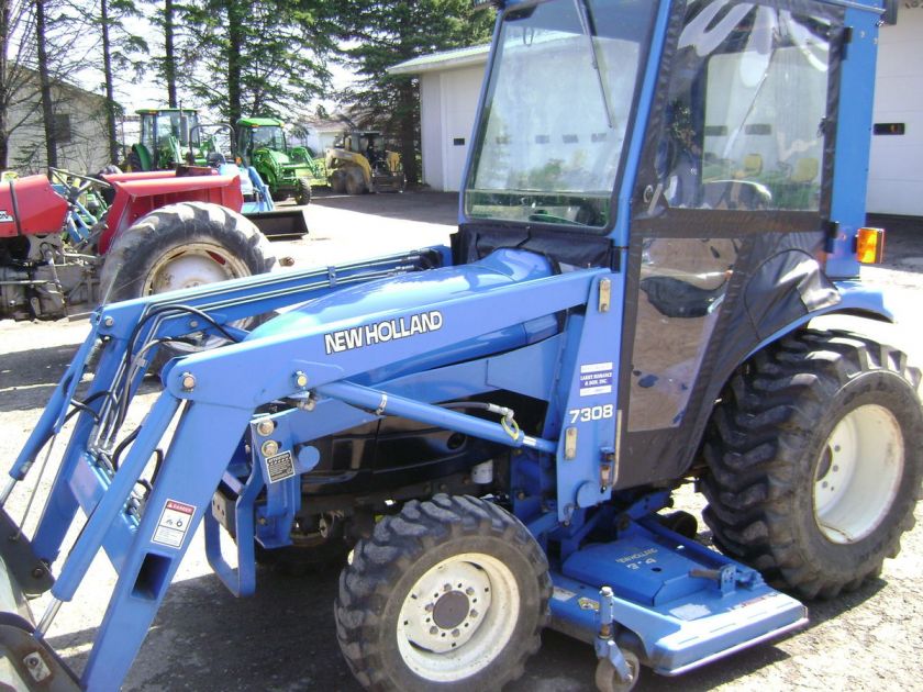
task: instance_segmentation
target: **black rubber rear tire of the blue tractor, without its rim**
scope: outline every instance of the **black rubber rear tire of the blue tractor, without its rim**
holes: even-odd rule
[[[889,346],[847,332],[803,331],[756,354],[732,378],[705,432],[703,516],[715,544],[801,598],[833,598],[880,573],[913,527],[923,476],[920,371]],[[904,436],[904,471],[879,526],[827,540],[813,514],[814,469],[835,423],[886,406]]]

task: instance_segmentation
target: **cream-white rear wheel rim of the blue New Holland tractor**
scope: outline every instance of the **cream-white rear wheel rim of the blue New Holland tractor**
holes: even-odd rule
[[[814,471],[814,517],[836,544],[861,540],[881,524],[903,476],[904,444],[894,415],[878,404],[847,413]]]

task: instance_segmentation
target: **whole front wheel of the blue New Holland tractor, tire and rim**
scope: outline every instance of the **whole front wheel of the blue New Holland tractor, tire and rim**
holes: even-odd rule
[[[499,506],[408,502],[340,576],[336,633],[370,690],[499,690],[523,673],[548,620],[548,562]]]

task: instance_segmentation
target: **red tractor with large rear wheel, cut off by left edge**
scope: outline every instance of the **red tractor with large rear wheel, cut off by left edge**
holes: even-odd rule
[[[243,207],[238,175],[205,167],[94,178],[53,169],[51,181],[4,181],[0,319],[82,316],[100,303],[268,271],[273,248]]]

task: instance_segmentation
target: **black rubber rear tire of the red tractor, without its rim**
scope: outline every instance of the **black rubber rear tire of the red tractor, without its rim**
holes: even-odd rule
[[[156,209],[120,233],[100,272],[103,302],[141,298],[147,274],[159,257],[176,247],[210,241],[242,259],[251,275],[270,271],[276,255],[269,241],[253,222],[237,212],[207,202],[180,202]],[[169,346],[157,349],[156,370],[176,355]]]

